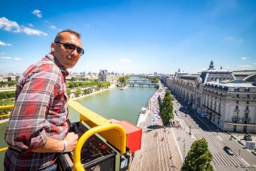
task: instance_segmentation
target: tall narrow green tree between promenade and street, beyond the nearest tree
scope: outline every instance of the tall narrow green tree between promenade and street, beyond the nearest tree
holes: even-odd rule
[[[164,99],[160,105],[161,120],[164,126],[170,124],[170,119],[173,119],[173,97],[170,94],[170,90],[167,90]]]

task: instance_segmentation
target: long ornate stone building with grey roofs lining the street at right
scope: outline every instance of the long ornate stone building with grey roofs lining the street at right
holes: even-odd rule
[[[256,133],[256,71],[215,69],[211,61],[207,71],[188,74],[179,70],[166,84],[220,129]]]

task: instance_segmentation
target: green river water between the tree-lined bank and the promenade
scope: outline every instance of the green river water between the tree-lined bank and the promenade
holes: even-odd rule
[[[88,97],[76,100],[86,108],[100,114],[106,119],[128,120],[136,125],[138,114],[142,107],[147,106],[147,101],[156,92],[156,88],[112,88]],[[79,120],[79,114],[74,109],[68,108],[71,122]],[[7,123],[0,124],[0,148],[7,146],[4,142],[4,132]],[[0,152],[0,163],[3,164],[4,152]],[[0,169],[1,170],[1,169]]]

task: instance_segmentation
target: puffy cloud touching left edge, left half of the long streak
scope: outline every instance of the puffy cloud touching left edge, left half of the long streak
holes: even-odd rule
[[[22,32],[22,28],[18,25],[17,22],[10,21],[5,17],[0,18],[0,28],[7,31],[12,31],[14,33]]]

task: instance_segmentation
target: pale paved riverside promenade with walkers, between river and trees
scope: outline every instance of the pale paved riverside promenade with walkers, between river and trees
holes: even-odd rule
[[[150,99],[148,110],[140,114],[138,124],[142,129],[141,149],[135,152],[130,166],[131,171],[141,170],[181,170],[182,157],[171,127],[165,127],[159,122],[153,122],[156,107],[152,104],[156,94]]]

